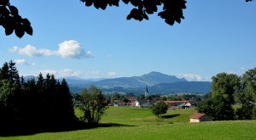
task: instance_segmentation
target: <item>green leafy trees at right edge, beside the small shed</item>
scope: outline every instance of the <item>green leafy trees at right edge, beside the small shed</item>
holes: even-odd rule
[[[219,73],[212,77],[212,92],[197,110],[213,120],[256,119],[256,68],[242,76]]]

